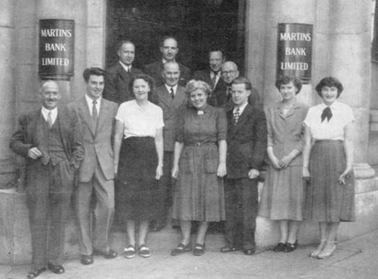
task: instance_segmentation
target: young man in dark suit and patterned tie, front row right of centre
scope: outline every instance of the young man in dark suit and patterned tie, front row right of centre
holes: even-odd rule
[[[261,108],[248,104],[252,84],[238,77],[231,83],[233,107],[227,111],[226,242],[222,253],[244,250],[254,254],[257,177],[265,159],[267,126]]]

